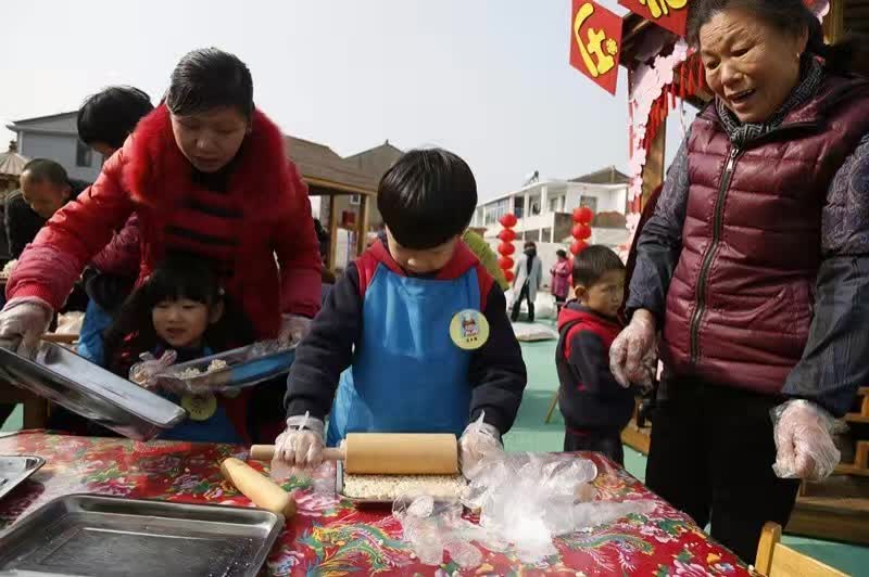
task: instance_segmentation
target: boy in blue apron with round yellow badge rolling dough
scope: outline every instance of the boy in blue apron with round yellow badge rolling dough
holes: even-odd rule
[[[326,445],[367,432],[454,433],[466,470],[501,450],[527,375],[504,293],[462,241],[476,205],[470,168],[446,151],[411,151],[387,171],[386,231],[297,349],[277,459],[316,466]]]

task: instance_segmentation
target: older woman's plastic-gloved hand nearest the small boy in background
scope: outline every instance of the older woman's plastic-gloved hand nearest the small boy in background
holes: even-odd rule
[[[626,388],[631,383],[651,386],[657,370],[656,349],[655,318],[640,309],[609,347],[613,376]]]

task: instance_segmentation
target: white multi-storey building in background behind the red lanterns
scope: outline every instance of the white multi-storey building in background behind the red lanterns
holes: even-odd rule
[[[499,219],[513,213],[518,219],[514,230],[519,240],[563,243],[570,236],[574,209],[588,206],[595,214],[595,236],[613,236],[609,242],[595,242],[616,245],[624,242],[622,231],[627,236],[628,180],[626,175],[610,166],[571,180],[536,182],[480,204],[471,226],[484,228],[484,236],[493,239],[503,228]],[[613,230],[614,234],[607,235],[605,230]]]

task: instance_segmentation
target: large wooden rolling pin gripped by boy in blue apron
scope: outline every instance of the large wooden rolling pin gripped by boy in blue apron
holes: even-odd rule
[[[254,445],[251,459],[270,461],[274,445]],[[458,444],[451,434],[350,433],[327,461],[343,461],[351,475],[455,475]]]

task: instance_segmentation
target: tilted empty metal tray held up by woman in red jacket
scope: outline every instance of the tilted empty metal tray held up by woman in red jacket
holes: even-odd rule
[[[136,440],[187,416],[160,395],[53,343],[42,342],[34,361],[0,347],[0,377]]]

